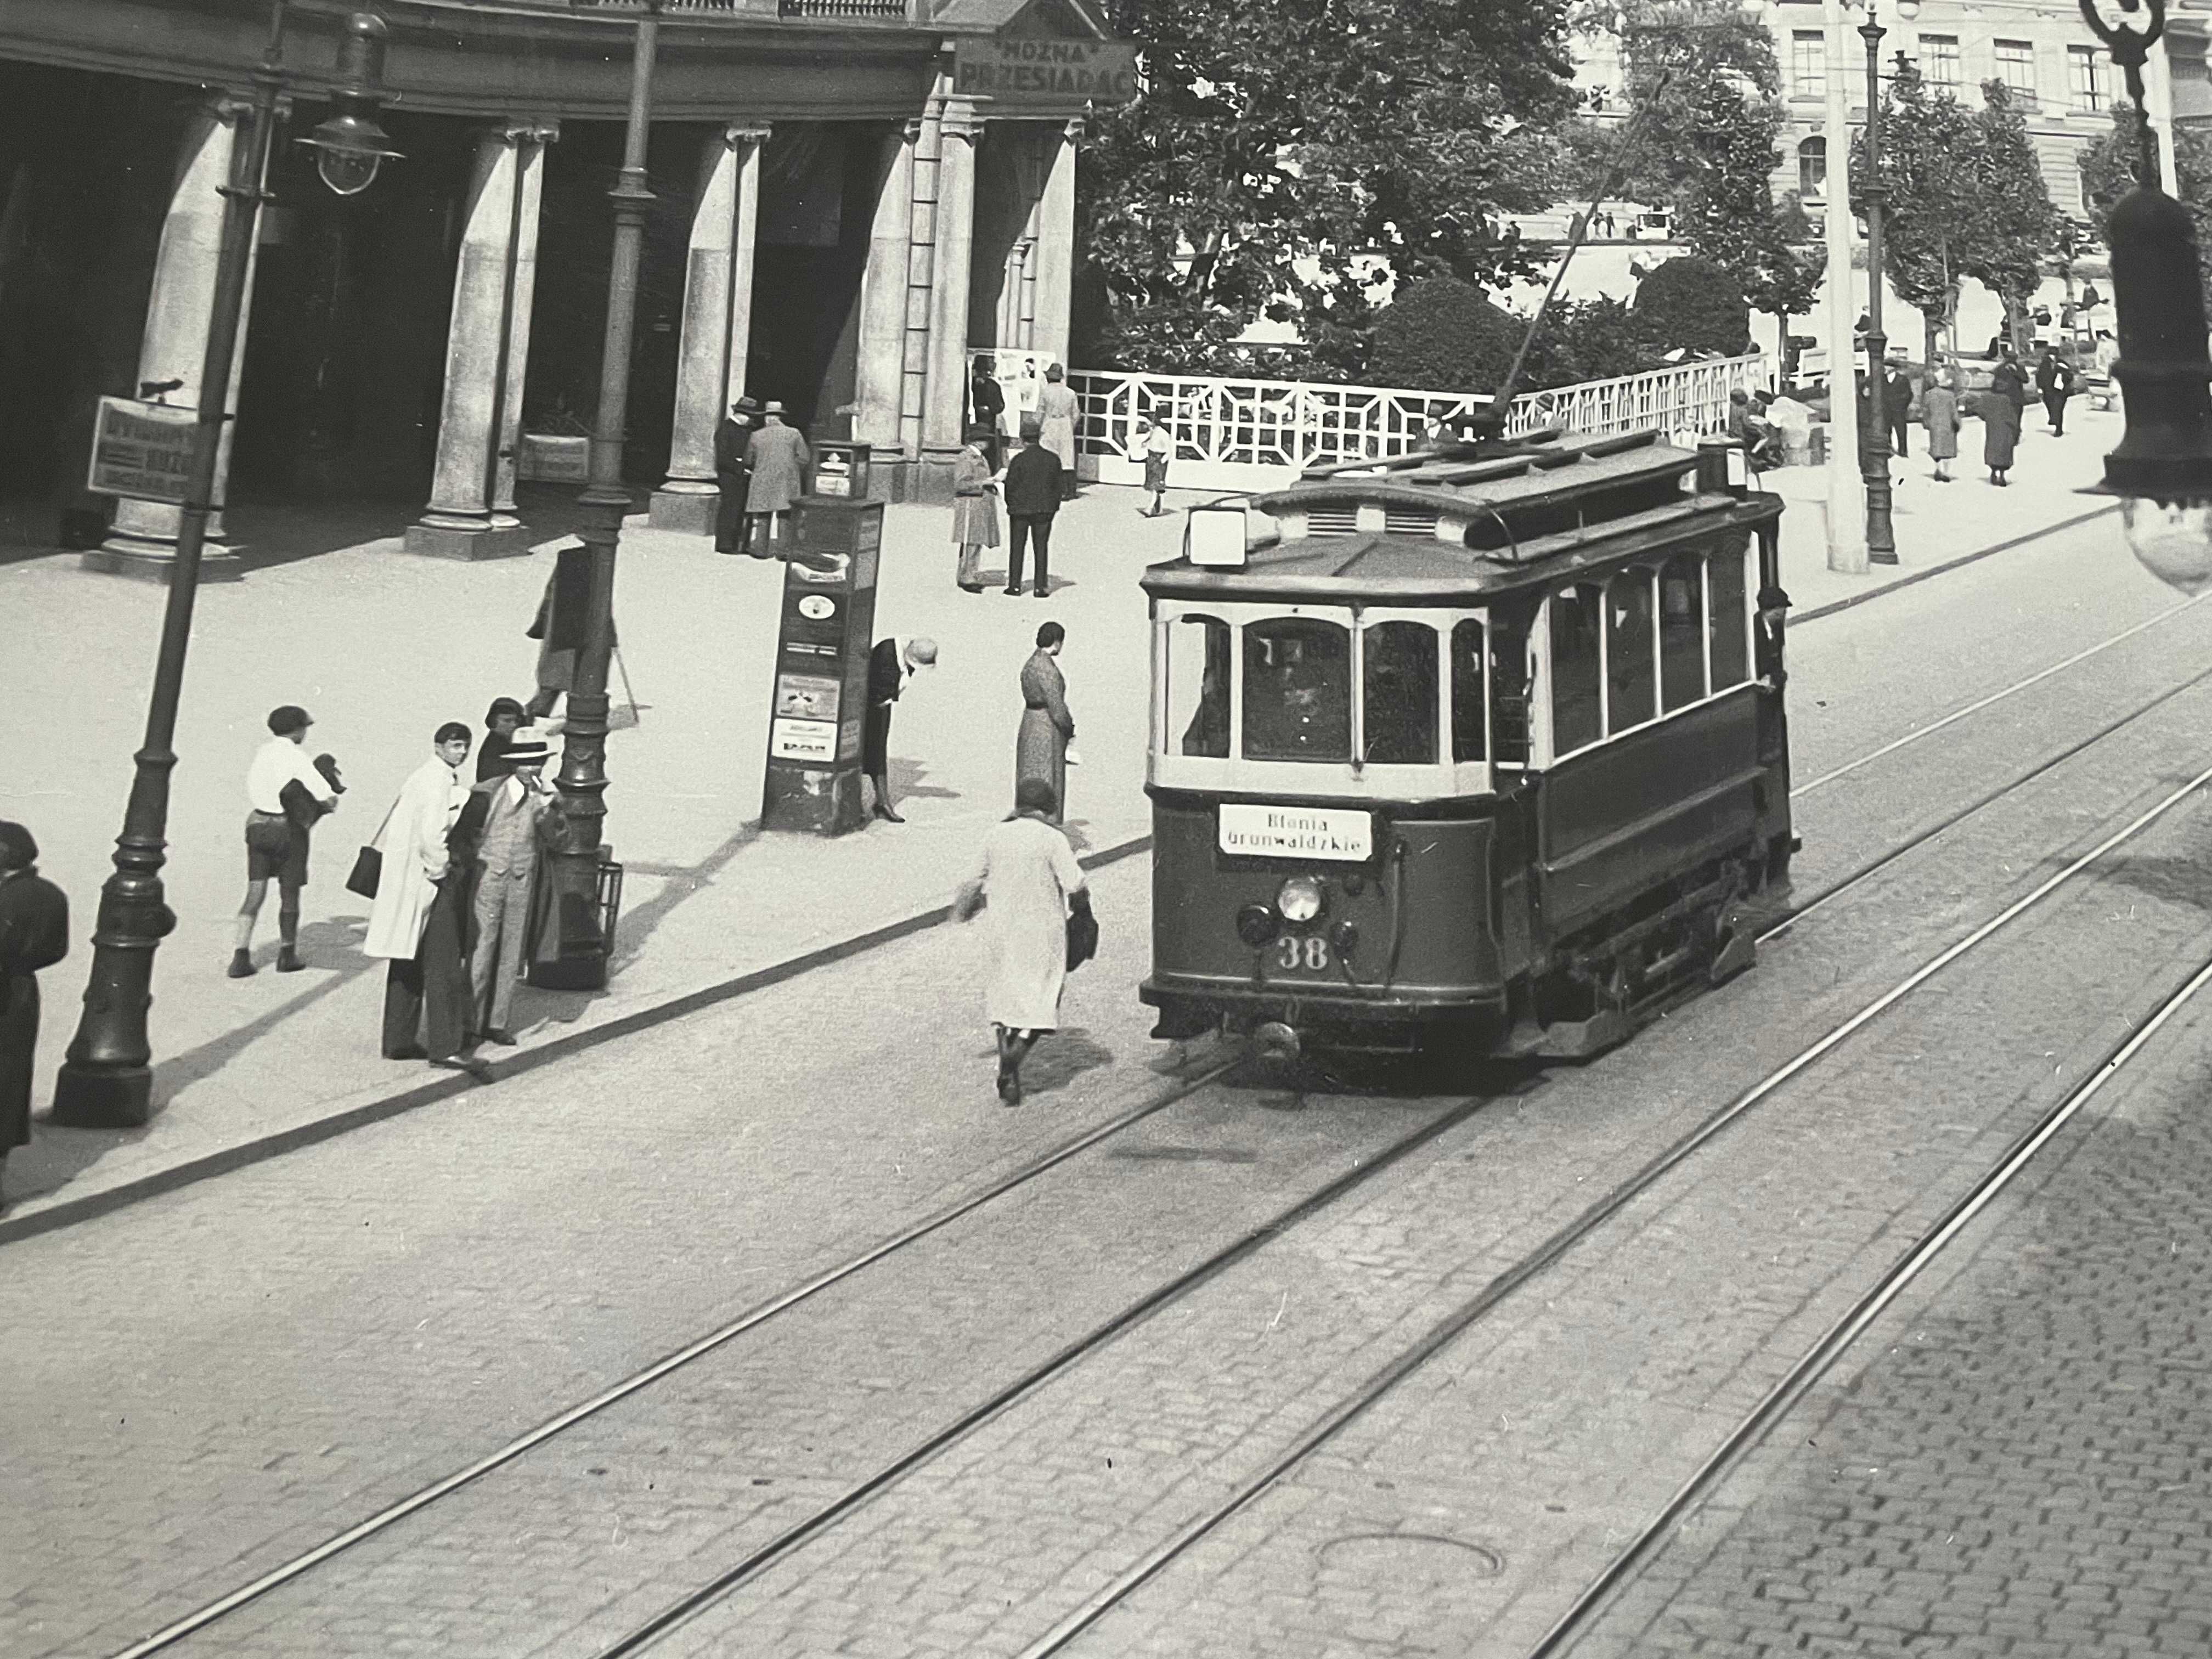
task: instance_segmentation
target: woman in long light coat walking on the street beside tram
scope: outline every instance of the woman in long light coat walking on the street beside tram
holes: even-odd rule
[[[1060,801],[1044,779],[1024,779],[1015,810],[984,836],[975,874],[953,896],[962,922],[989,909],[995,971],[984,1018],[998,1033],[998,1097],[1022,1102],[1022,1060],[1037,1037],[1060,1029],[1068,982],[1068,909],[1091,920],[1091,889],[1066,832],[1053,823]]]

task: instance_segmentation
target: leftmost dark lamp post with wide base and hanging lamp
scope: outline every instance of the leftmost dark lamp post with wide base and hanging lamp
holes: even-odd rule
[[[223,405],[243,327],[246,270],[254,248],[254,221],[265,199],[261,184],[276,128],[276,97],[283,91],[285,7],[288,0],[270,4],[268,46],[252,75],[254,95],[246,117],[248,131],[230,153],[208,349],[199,369],[199,418],[192,425],[177,555],[168,573],[161,646],[155,657],[153,697],[146,706],[146,741],[133,757],[137,772],[131,779],[131,803],[124,807],[124,832],[115,838],[115,874],[100,889],[84,1013],[53,1086],[53,1121],[77,1128],[131,1128],[153,1115],[153,1046],[146,1035],[146,1009],[153,1004],[153,953],[177,927],[177,916],[164,902],[161,891],[161,865],[168,847],[168,774],[177,765],[173,743],[177,703],[184,695],[184,650],[192,637],[199,553],[215,500],[223,422],[230,418]],[[398,155],[374,119],[380,102],[383,62],[383,20],[356,11],[345,20],[345,40],[338,51],[338,113],[301,139],[316,150],[323,181],[341,195],[367,188],[376,168],[387,157]]]

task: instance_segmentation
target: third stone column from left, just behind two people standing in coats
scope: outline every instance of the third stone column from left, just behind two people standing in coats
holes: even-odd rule
[[[684,263],[677,420],[668,440],[668,482],[653,491],[655,529],[714,533],[721,502],[714,429],[745,392],[745,358],[752,352],[752,250],[765,144],[765,126],[726,126],[706,144]]]

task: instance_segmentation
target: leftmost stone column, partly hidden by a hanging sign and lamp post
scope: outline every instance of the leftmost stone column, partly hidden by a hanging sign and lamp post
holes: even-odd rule
[[[248,142],[246,124],[252,106],[221,97],[201,108],[184,135],[177,161],[177,188],[170,192],[168,219],[161,223],[161,248],[153,265],[153,294],[146,301],[146,334],[139,341],[139,385],[181,380],[161,400],[184,409],[199,407],[199,372],[208,354],[208,327],[215,321],[215,263],[223,241],[223,186],[230,181],[230,153]],[[230,363],[228,403],[239,407],[239,376],[246,369],[246,321],[254,305],[254,257],[246,265],[243,316],[239,349]],[[137,387],[131,387],[137,392]],[[230,436],[237,420],[223,427],[215,460],[215,511],[208,515],[208,538],[199,553],[201,582],[234,582],[241,575],[239,549],[223,533],[223,491],[230,478]],[[166,502],[115,502],[115,529],[108,540],[84,555],[84,566],[117,575],[168,580],[177,557],[181,507]]]

